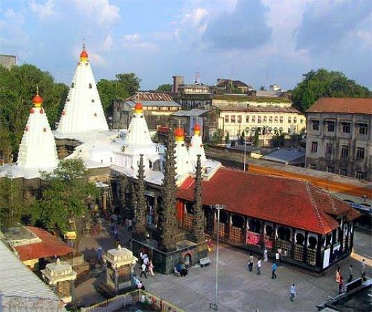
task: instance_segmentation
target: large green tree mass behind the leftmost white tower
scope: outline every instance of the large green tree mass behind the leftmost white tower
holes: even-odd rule
[[[36,86],[52,129],[63,110],[68,87],[55,83],[50,73],[31,64],[10,69],[0,66],[0,81],[0,154],[9,161],[10,154],[18,153]]]

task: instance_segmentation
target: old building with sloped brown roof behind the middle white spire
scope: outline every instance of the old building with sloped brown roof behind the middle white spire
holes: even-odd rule
[[[137,92],[127,100],[113,103],[113,129],[127,129],[134,112],[134,105],[140,101],[149,130],[156,130],[168,124],[168,116],[181,110],[169,94],[158,92]]]

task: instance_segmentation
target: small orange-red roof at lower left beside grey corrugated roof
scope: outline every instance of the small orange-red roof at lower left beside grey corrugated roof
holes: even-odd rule
[[[33,234],[41,239],[40,243],[32,243],[29,245],[15,246],[15,250],[18,252],[19,259],[22,261],[39,259],[45,257],[63,256],[69,252],[73,252],[74,249],[67,246],[65,243],[51,235],[49,232],[39,227],[26,227]]]

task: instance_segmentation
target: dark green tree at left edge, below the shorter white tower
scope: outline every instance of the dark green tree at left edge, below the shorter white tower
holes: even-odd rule
[[[19,179],[0,179],[0,227],[10,227],[20,223],[26,214]]]

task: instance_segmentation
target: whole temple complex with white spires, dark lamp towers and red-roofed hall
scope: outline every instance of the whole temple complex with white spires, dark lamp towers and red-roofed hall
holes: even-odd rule
[[[17,164],[1,166],[0,177],[36,177],[29,189],[38,189],[39,171],[55,168],[58,157],[83,159],[90,180],[102,187],[100,209],[136,218],[131,256],[152,250],[163,273],[180,260],[193,265],[207,256],[204,233],[217,236],[215,205],[225,206],[219,236],[226,243],[271,256],[280,249],[284,261],[317,272],[350,254],[358,213],[346,203],[308,182],[207,159],[197,123],[190,144],[180,122],[167,131],[166,144],[152,141],[140,101],[127,129],[108,129],[84,46],[58,127],[51,131],[37,92]],[[132,264],[122,269],[125,276]]]

